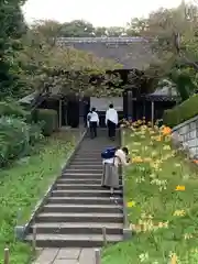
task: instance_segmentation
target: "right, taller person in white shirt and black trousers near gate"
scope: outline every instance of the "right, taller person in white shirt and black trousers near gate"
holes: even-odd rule
[[[118,112],[111,103],[106,112],[106,125],[108,127],[108,135],[112,140],[116,138],[116,129],[118,121]]]

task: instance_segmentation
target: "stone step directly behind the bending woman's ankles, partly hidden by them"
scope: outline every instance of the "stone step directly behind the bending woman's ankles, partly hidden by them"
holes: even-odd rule
[[[77,189],[77,190],[100,190],[100,189],[105,189],[103,187],[101,187],[100,184],[92,184],[92,185],[86,185],[86,183],[84,184],[56,184],[54,187],[54,190],[73,190],[73,189]],[[122,186],[120,186],[119,189],[122,189]]]

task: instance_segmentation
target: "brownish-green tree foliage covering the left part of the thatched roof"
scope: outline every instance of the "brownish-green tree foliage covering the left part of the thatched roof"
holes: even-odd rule
[[[31,90],[50,87],[55,94],[65,95],[105,94],[107,80],[103,85],[101,81],[92,85],[89,82],[90,78],[103,76],[106,70],[122,68],[122,65],[84,51],[54,45],[52,32],[46,32],[48,31],[44,31],[42,25],[35,25],[23,37],[24,48],[19,52],[16,59],[23,69],[20,76],[22,82],[26,81],[25,87]],[[43,35],[44,33],[47,35]]]

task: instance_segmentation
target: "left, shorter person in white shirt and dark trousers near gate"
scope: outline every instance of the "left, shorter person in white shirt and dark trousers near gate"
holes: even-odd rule
[[[92,108],[91,111],[87,114],[87,127],[90,130],[91,139],[97,136],[97,127],[98,125],[99,125],[99,116],[96,112],[96,108]]]

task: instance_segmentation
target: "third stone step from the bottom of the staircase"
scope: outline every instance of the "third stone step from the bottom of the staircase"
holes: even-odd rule
[[[41,212],[35,222],[114,222],[123,223],[123,213]]]

